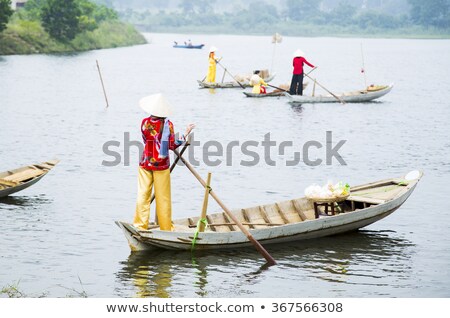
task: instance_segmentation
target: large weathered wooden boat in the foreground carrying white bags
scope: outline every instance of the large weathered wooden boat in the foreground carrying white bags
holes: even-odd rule
[[[336,204],[334,215],[325,214],[325,207],[301,197],[293,200],[233,210],[233,214],[261,244],[314,239],[355,231],[372,224],[397,210],[422,177],[412,171],[401,178],[392,178],[351,188],[350,196]],[[117,221],[132,251],[175,249],[192,246],[199,217],[175,220],[173,232],[161,231],[157,225],[137,230],[131,224]],[[207,216],[208,227],[198,233],[198,250],[235,249],[251,246],[247,236],[223,213]]]

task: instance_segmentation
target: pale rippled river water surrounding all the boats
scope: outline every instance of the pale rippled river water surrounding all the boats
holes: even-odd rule
[[[61,162],[27,190],[0,201],[0,288],[16,285],[28,297],[449,297],[450,178],[449,40],[336,39],[195,35],[202,50],[172,48],[185,35],[146,34],[149,44],[67,55],[0,57],[0,171],[53,158]],[[334,92],[394,83],[391,93],[366,104],[291,106],[283,98],[250,99],[242,89],[199,89],[207,49],[219,48],[232,74],[276,72],[273,85],[289,83],[291,55],[301,48],[318,66],[311,75]],[[106,108],[96,60],[101,67]],[[220,67],[217,79],[222,79]],[[226,79],[230,79],[229,76]],[[310,83],[305,94],[310,94]],[[205,164],[193,147],[198,171],[230,207],[303,196],[328,180],[357,185],[425,175],[406,203],[388,218],[356,233],[268,246],[278,265],[265,268],[253,249],[214,253],[130,253],[114,224],[131,221],[138,148],[145,114],[137,106],[162,92],[171,102],[175,129],[196,123],[195,139],[261,144],[270,133],[285,154],[256,148],[260,160],[231,149]],[[317,88],[316,93],[319,93]],[[342,162],[326,164],[327,131]],[[120,155],[105,154],[104,144]],[[288,166],[308,141],[323,148],[311,166]],[[128,149],[129,148],[129,149]],[[192,157],[191,156],[191,157]],[[173,173],[174,217],[199,215],[203,189],[180,166]],[[217,211],[210,200],[209,211]]]

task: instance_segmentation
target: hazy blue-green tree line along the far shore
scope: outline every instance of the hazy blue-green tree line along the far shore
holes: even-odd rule
[[[182,0],[176,10],[154,8],[138,11],[128,8],[119,11],[119,14],[128,22],[150,31],[203,26],[205,30],[208,27],[222,27],[224,30],[258,33],[265,27],[283,24],[338,26],[346,30],[365,31],[408,27],[434,28],[444,32],[450,29],[450,0],[407,0],[409,10],[395,15],[356,6],[349,0],[339,1],[331,9],[324,10],[323,2],[284,0],[283,6],[280,6],[272,2],[250,1],[245,3],[245,7],[220,12],[217,8],[221,7],[221,1]],[[287,34],[291,33],[289,29],[287,31]],[[295,30],[291,31],[295,33]]]

